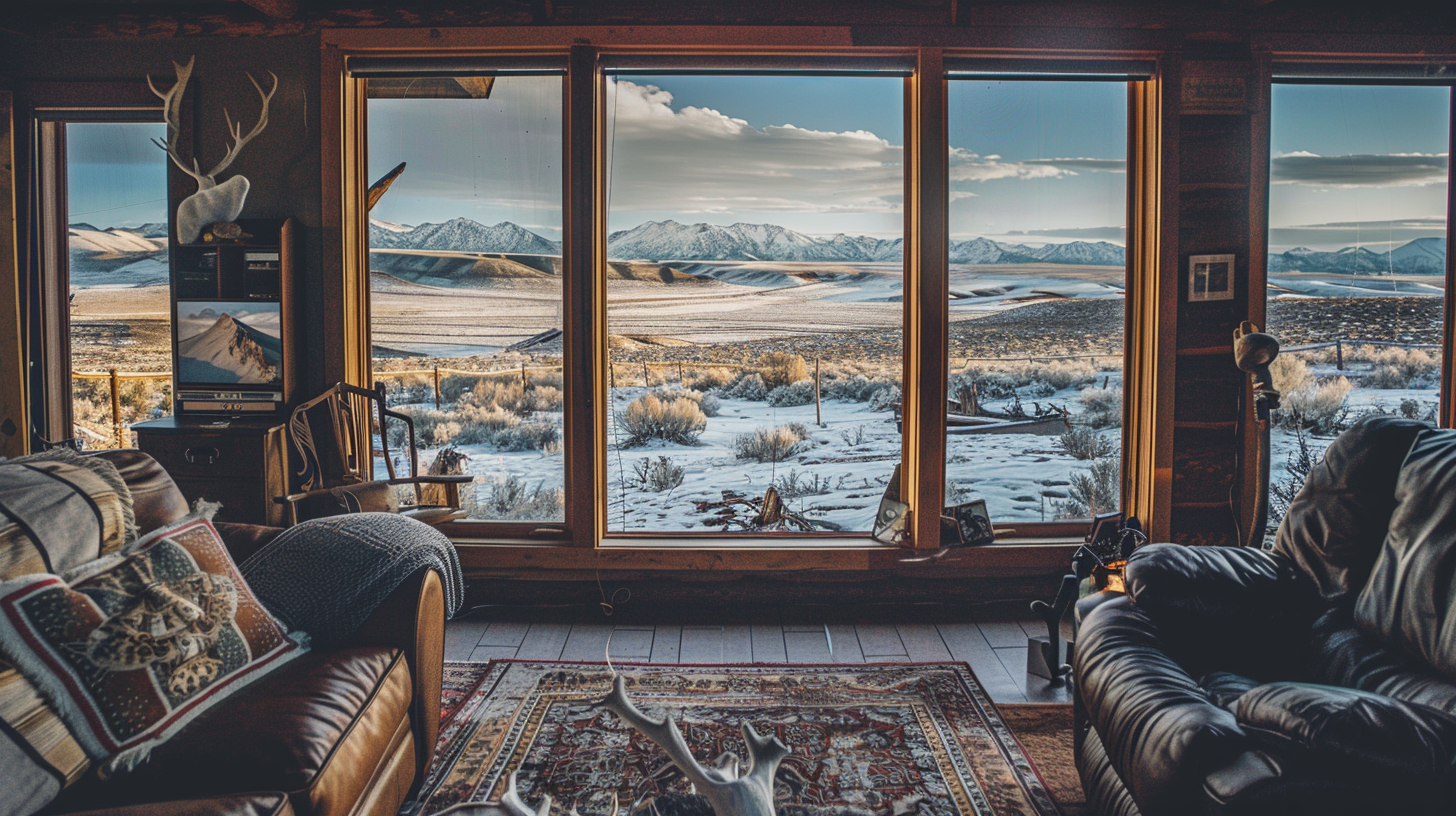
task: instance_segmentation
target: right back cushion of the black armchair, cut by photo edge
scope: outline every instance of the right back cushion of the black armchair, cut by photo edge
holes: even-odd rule
[[[1417,437],[1395,501],[1356,627],[1456,680],[1456,431]]]

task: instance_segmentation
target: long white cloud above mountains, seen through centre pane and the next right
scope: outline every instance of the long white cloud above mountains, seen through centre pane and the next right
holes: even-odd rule
[[[609,90],[613,210],[693,213],[898,213],[904,149],[868,131],[757,128],[709,108],[671,106],[673,95],[617,80]],[[951,198],[992,179],[1076,175],[1060,162],[1008,162],[952,149]],[[1077,166],[1077,169],[1102,169]]]

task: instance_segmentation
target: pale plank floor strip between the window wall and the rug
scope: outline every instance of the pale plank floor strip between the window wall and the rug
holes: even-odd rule
[[[894,618],[894,615],[888,615]],[[913,622],[844,622],[810,611],[747,618],[660,613],[614,621],[600,613],[483,609],[446,625],[446,660],[593,660],[632,663],[964,662],[996,702],[1070,702],[1064,683],[1026,673],[1037,621],[917,615]],[[907,618],[909,619],[909,618]],[[927,622],[930,621],[930,622]]]

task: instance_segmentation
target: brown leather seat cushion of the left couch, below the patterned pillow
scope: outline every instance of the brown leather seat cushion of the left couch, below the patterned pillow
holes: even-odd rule
[[[412,691],[399,650],[304,654],[204,713],[146,765],[86,785],[87,804],[281,790],[300,815],[349,813],[408,739]]]

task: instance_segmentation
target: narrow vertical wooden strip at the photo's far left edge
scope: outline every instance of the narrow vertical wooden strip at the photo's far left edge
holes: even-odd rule
[[[15,96],[0,90],[0,458],[29,453],[20,248],[16,243]]]

